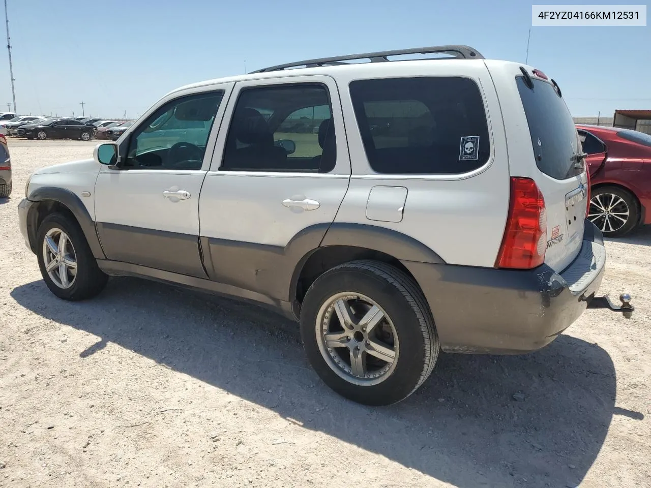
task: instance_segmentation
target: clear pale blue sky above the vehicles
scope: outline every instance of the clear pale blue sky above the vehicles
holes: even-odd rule
[[[8,0],[8,8],[21,113],[81,115],[83,101],[87,115],[135,117],[180,85],[242,73],[244,60],[251,71],[468,44],[523,62],[529,29],[529,64],[558,81],[574,116],[651,109],[651,27],[531,27],[530,2]],[[3,47],[0,111],[10,101]]]

